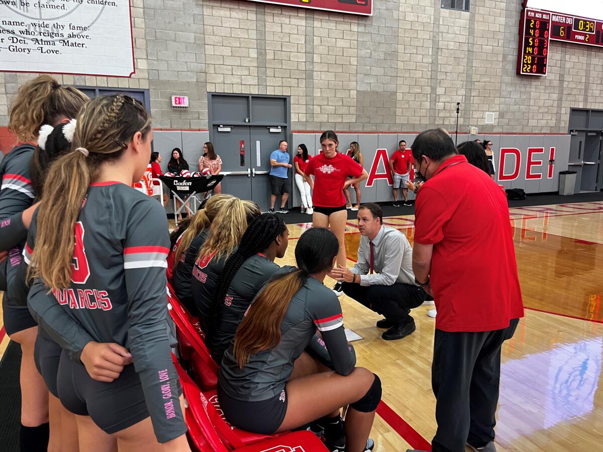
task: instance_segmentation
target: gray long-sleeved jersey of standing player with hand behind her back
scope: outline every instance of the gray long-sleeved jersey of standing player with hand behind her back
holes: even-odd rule
[[[35,250],[34,220],[26,260]],[[168,251],[159,202],[118,182],[91,184],[75,225],[72,283],[47,293],[37,280],[28,295],[34,318],[71,359],[79,362],[90,341],[116,342],[130,351],[159,442],[186,432],[170,350]]]

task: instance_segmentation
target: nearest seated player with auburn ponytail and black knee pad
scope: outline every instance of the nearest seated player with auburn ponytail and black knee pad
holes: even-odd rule
[[[323,284],[338,251],[331,231],[307,231],[295,248],[298,269],[275,275],[251,304],[219,373],[218,398],[232,425],[270,435],[336,416],[349,404],[346,450],[367,450],[381,383],[355,368],[341,305]],[[317,330],[335,371],[305,351]]]

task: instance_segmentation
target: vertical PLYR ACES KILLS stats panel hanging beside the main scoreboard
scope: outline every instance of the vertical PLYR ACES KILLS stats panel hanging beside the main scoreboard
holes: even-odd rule
[[[517,74],[546,75],[551,35],[551,13],[524,10],[519,34]]]

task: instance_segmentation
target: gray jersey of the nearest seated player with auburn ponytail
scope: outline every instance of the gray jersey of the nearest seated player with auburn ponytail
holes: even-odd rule
[[[356,356],[347,344],[341,304],[331,289],[309,277],[293,296],[280,324],[280,344],[253,354],[242,369],[231,344],[220,367],[220,387],[229,397],[241,401],[276,397],[285,389],[294,361],[311,345],[317,330],[323,336],[333,370],[341,375],[350,374]]]

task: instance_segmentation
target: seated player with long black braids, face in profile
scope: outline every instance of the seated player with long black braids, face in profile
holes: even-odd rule
[[[288,237],[285,222],[277,216],[264,213],[256,218],[247,227],[239,248],[227,260],[212,297],[201,302],[205,310],[201,315],[207,318],[205,341],[216,363],[222,362],[251,300],[280,270],[274,259],[285,256]],[[294,269],[286,267],[287,271]],[[201,292],[200,296],[203,295]]]

